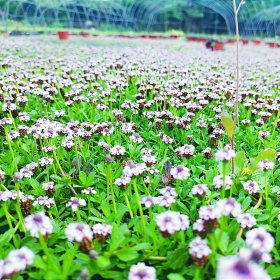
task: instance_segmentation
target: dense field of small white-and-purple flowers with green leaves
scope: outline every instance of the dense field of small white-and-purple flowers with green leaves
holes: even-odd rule
[[[279,50],[234,126],[234,45],[83,40],[1,39],[0,279],[279,279]]]

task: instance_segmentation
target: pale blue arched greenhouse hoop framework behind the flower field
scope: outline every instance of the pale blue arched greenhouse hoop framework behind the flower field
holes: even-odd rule
[[[254,34],[265,25],[267,29],[274,28],[276,35],[280,22],[280,0],[247,2],[239,15],[240,32]],[[199,5],[214,11],[224,19],[227,32],[234,33],[231,0],[172,0],[172,3],[168,0],[5,0],[0,1],[0,8],[2,23],[7,27],[9,19],[28,20],[33,25],[48,25],[53,19],[67,27],[85,27],[86,22],[98,26],[100,22],[107,22],[132,30],[141,24],[143,29],[151,31],[158,15],[172,8],[180,9],[186,4],[190,9],[193,5]]]

